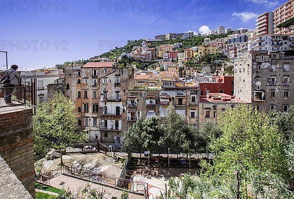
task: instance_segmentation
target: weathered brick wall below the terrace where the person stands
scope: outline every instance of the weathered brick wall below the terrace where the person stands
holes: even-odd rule
[[[0,112],[0,156],[35,198],[31,108],[12,106]]]

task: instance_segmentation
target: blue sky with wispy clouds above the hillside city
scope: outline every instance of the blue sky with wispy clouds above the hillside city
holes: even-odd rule
[[[21,70],[51,68],[155,35],[255,28],[287,0],[1,0],[0,50]],[[6,65],[0,53],[0,69]]]

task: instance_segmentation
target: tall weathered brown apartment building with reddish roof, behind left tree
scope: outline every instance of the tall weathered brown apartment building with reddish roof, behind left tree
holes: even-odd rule
[[[78,126],[89,141],[120,143],[126,117],[123,101],[132,73],[133,69],[115,68],[115,62],[65,68],[65,95],[75,104]]]

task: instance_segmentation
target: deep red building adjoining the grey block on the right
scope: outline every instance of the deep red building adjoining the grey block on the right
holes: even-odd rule
[[[201,96],[205,96],[207,93],[234,95],[234,76],[217,76],[212,78],[215,79],[214,82],[198,82]]]

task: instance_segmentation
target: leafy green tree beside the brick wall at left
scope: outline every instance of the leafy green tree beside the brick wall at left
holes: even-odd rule
[[[73,102],[60,93],[55,93],[53,99],[40,104],[33,118],[37,157],[44,156],[49,147],[62,151],[69,144],[86,140],[85,134],[77,131],[74,109]]]

